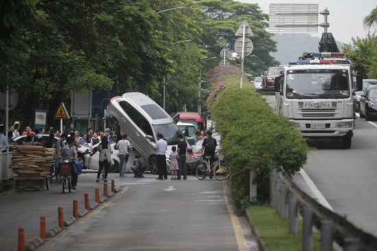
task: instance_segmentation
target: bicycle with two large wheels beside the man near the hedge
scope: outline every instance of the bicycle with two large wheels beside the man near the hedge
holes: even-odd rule
[[[196,169],[196,177],[199,180],[204,180],[208,174],[213,173],[213,176],[216,180],[226,180],[230,174],[230,167],[229,165],[221,161],[220,158],[213,163],[212,167],[210,168],[210,156],[206,156],[206,160],[201,160],[197,169]]]

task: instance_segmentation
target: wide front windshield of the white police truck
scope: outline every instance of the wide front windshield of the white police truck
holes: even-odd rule
[[[348,71],[289,71],[285,93],[289,99],[348,98],[350,97]]]

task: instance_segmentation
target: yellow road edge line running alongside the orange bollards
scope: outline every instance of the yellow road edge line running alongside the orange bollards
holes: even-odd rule
[[[85,222],[88,222],[88,220],[91,219],[93,216],[97,215],[97,213],[99,213],[102,209],[104,209],[105,206],[107,206],[108,204],[110,204],[115,198],[117,198],[119,195],[125,193],[125,191],[127,191],[128,188],[129,187],[125,187],[124,189],[122,189],[118,193],[115,193],[114,196],[110,197],[111,200],[106,200],[104,203],[99,204],[99,206],[97,206],[93,211],[90,211],[88,214],[86,214],[86,216],[84,216],[82,218],[79,218],[79,220],[76,220],[76,222],[74,224],[72,224],[71,226],[63,229],[62,232],[60,232],[55,237],[48,238],[47,239],[48,241],[45,241],[45,243],[43,243],[43,245],[40,246],[38,248],[38,250],[46,250],[47,248],[50,248],[51,246],[56,245],[56,243],[58,243],[64,237],[66,237],[71,232],[73,232],[73,230],[76,230],[79,226],[81,226]]]

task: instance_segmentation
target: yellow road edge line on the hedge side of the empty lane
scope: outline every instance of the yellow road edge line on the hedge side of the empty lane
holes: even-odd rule
[[[226,207],[228,208],[228,213],[230,215],[230,219],[232,220],[233,230],[234,230],[234,237],[236,237],[236,242],[239,250],[245,250],[247,251],[246,246],[246,240],[245,236],[243,235],[241,223],[239,222],[239,217],[234,215],[233,206],[230,203],[230,195],[228,192],[228,185],[226,184],[226,180],[222,181],[223,183],[223,191],[224,191],[224,197],[226,202]]]

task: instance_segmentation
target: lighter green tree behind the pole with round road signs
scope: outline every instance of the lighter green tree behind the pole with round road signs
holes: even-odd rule
[[[263,14],[258,4],[240,3],[232,0],[201,0],[199,7],[205,14],[202,22],[204,35],[202,45],[210,51],[212,56],[219,56],[221,49],[232,50],[239,36],[236,30],[243,19],[249,23],[254,36],[249,37],[254,45],[252,56],[245,57],[245,73],[261,75],[271,66],[279,64],[269,55],[276,51],[276,42],[271,39],[273,34],[266,32],[268,15]],[[232,65],[240,64],[239,59],[230,61]]]

